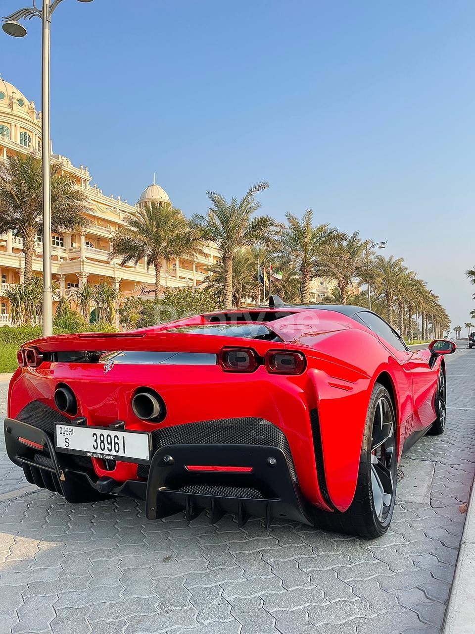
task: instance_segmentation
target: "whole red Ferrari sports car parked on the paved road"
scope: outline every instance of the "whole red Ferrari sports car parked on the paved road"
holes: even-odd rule
[[[372,538],[388,528],[405,448],[445,427],[444,354],[412,352],[356,306],[220,311],[18,351],[9,458],[70,502],[146,500]]]

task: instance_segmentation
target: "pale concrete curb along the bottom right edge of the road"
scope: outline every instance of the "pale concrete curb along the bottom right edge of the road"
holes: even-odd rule
[[[467,634],[475,628],[475,483],[472,484],[459,556],[448,597],[442,634]]]

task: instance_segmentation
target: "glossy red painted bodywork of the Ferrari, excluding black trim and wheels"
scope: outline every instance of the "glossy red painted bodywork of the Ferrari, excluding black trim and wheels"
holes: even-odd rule
[[[268,372],[258,363],[251,373],[224,372],[216,365],[114,365],[43,361],[19,367],[9,386],[8,415],[39,400],[54,408],[58,383],[71,387],[78,415],[88,425],[106,426],[124,420],[126,429],[153,430],[219,418],[261,417],[277,425],[288,439],[301,493],[320,508],[331,510],[319,487],[310,412],[319,413],[326,485],[334,508],[346,510],[353,500],[365,419],[371,392],[379,381],[393,395],[397,416],[398,458],[409,434],[429,427],[436,414],[434,395],[441,358],[430,366],[428,350],[400,351],[381,340],[363,323],[331,310],[295,307],[264,309],[251,316],[227,311],[185,318],[124,334],[60,335],[28,342],[39,354],[56,351],[181,351],[219,355],[224,348],[251,349],[256,359],[269,350],[295,351],[305,359],[298,375]],[[270,317],[284,313],[275,320]],[[229,322],[265,323],[281,341],[236,339],[217,335],[169,332],[177,326],[209,323],[223,316]],[[91,389],[93,386],[93,389]],[[137,418],[130,401],[137,387],[162,396],[167,417],[160,424]],[[210,439],[212,441],[212,439]],[[137,477],[137,465],[117,462],[113,471],[93,460],[98,476],[122,482]],[[192,465],[193,466],[193,465]]]

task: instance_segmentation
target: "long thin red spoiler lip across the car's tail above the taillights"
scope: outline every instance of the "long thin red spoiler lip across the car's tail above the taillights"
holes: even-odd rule
[[[269,349],[284,350],[286,344],[277,341],[244,339],[244,337],[220,337],[196,333],[171,332],[126,332],[126,333],[80,333],[77,335],[53,335],[44,339],[34,339],[22,348],[35,347],[41,353],[54,352],[116,352],[116,351],[158,351],[219,353],[223,347],[250,347],[258,354]]]

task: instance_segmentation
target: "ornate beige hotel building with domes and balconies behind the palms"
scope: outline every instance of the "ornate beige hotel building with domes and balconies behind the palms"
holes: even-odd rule
[[[39,152],[41,150],[41,112],[35,109],[34,101],[28,101],[15,86],[0,79],[0,159],[16,153]],[[73,179],[77,187],[87,195],[87,217],[91,225],[82,233],[55,233],[52,238],[53,279],[61,292],[74,293],[87,281],[91,284],[110,280],[118,287],[123,297],[139,295],[155,296],[155,269],[147,270],[145,262],[137,266],[120,266],[119,261],[109,261],[111,235],[124,226],[125,217],[133,215],[139,205],[151,201],[170,202],[168,194],[155,182],[141,194],[136,205],[129,205],[120,196],[103,194],[84,165],[75,167],[66,157],[53,154],[62,169]],[[155,179],[154,179],[155,181]],[[0,235],[0,325],[10,323],[9,305],[4,292],[11,284],[23,280],[22,239],[11,233]],[[181,258],[164,262],[163,287],[197,287],[207,275],[208,267],[220,259],[220,254],[210,244],[196,259]],[[42,243],[35,243],[34,271],[42,270]]]

